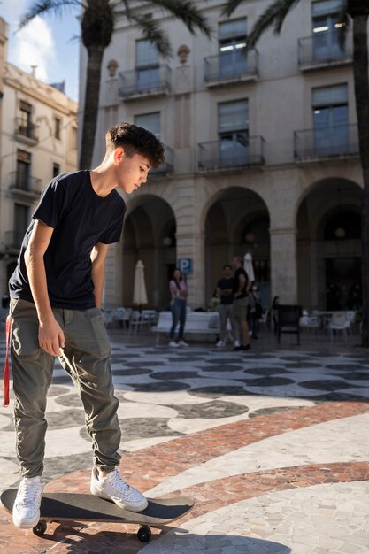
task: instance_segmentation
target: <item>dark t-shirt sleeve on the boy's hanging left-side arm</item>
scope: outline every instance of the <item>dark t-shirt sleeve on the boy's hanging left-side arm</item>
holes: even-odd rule
[[[56,180],[42,190],[41,199],[33,219],[39,219],[45,225],[55,228],[66,209],[65,188]]]

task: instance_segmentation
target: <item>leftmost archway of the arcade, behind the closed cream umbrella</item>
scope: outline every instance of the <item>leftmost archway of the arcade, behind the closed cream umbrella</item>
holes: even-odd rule
[[[153,195],[137,197],[123,228],[122,299],[133,302],[135,264],[145,267],[148,307],[164,309],[169,302],[168,281],[176,264],[176,222],[172,208]]]

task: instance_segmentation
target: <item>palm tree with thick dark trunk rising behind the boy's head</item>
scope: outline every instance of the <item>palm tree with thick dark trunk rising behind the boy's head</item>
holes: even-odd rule
[[[123,7],[123,14],[142,30],[142,35],[158,48],[160,54],[168,57],[172,54],[167,35],[155,19],[150,19],[133,9],[130,0],[39,0],[35,1],[23,16],[19,27],[24,27],[36,16],[54,12],[63,15],[69,8],[78,8],[81,13],[81,40],[88,53],[87,78],[84,112],[82,119],[81,169],[90,167],[94,151],[101,68],[104,50],[111,43],[117,20],[117,8]],[[211,35],[206,19],[196,8],[193,0],[150,0],[142,4],[154,4],[176,19],[180,19],[193,35],[199,29],[205,35]],[[122,13],[119,11],[119,13]]]

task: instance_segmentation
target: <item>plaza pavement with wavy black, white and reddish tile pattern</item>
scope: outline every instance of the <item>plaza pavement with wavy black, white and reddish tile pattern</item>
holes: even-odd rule
[[[327,336],[267,332],[249,352],[111,331],[121,472],[148,496],[194,496],[151,541],[136,526],[52,523],[43,537],[0,508],[0,552],[369,554],[369,356]],[[4,358],[4,341],[0,342]],[[48,402],[49,491],[88,491],[80,399],[57,364]],[[16,486],[12,406],[0,412],[0,489]]]

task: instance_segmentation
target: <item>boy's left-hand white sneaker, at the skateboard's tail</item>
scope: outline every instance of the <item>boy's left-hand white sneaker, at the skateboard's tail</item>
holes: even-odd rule
[[[12,509],[12,521],[15,527],[32,529],[40,519],[40,505],[46,481],[40,476],[24,477],[20,481],[17,496]]]

